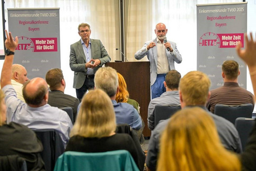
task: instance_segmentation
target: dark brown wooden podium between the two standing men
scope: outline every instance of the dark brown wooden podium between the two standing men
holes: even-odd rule
[[[150,63],[108,62],[105,66],[111,66],[125,78],[130,98],[141,107],[140,114],[145,123],[143,135],[149,137],[151,131],[147,127],[147,109],[150,102]]]

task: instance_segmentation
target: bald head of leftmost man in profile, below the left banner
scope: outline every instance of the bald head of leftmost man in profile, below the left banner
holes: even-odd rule
[[[24,84],[29,78],[27,78],[27,70],[20,64],[13,64],[12,66],[12,79],[16,80],[20,84]]]

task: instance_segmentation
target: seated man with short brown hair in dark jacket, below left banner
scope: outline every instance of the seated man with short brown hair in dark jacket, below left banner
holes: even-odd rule
[[[77,118],[77,108],[79,99],[68,94],[64,94],[66,82],[62,70],[59,68],[50,69],[46,73],[46,82],[50,86],[48,104],[53,107],[63,108],[71,107],[73,109],[73,118]]]

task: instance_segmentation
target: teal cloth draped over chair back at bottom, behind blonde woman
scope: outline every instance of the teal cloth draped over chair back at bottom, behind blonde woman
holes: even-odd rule
[[[132,156],[126,150],[102,153],[65,152],[54,171],[139,171]]]

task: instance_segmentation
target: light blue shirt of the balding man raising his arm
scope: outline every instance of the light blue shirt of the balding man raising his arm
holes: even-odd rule
[[[32,130],[55,129],[66,145],[73,124],[64,110],[48,104],[32,108],[17,98],[12,85],[4,86],[2,91],[5,94],[7,123],[24,124]]]

